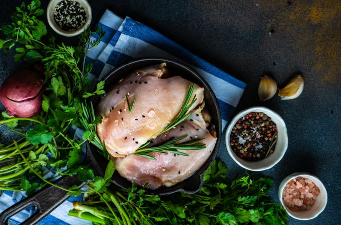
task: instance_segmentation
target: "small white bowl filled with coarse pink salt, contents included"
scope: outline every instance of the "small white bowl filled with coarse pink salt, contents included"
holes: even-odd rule
[[[301,220],[315,218],[327,204],[323,183],[307,172],[295,172],[285,177],[279,184],[278,197],[287,213]]]

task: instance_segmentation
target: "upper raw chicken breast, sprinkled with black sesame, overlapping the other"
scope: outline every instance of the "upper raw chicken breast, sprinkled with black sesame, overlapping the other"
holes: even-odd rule
[[[155,138],[179,113],[192,82],[180,76],[162,78],[164,71],[165,63],[134,71],[101,100],[99,114],[103,121],[97,125],[97,134],[111,155],[124,157],[134,152]],[[203,91],[195,84],[192,98],[196,94],[197,100],[191,109],[203,101]],[[129,102],[136,96],[131,112],[126,95]]]

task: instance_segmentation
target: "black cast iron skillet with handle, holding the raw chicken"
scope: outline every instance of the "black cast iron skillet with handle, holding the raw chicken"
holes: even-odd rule
[[[215,94],[211,87],[207,84],[207,82],[196,72],[194,72],[189,67],[185,66],[182,63],[177,61],[166,59],[166,58],[140,58],[134,61],[128,62],[123,64],[111,72],[109,72],[104,80],[106,85],[106,91],[110,90],[111,86],[118,82],[119,79],[124,77],[129,72],[132,72],[136,69],[142,68],[144,66],[153,65],[166,62],[167,68],[172,71],[174,74],[179,74],[183,78],[188,79],[192,82],[197,83],[200,86],[205,88],[204,91],[204,99],[205,105],[211,113],[212,122],[216,126],[217,132],[217,143],[212,151],[210,157],[205,161],[205,163],[189,178],[185,179],[184,181],[175,184],[171,187],[161,187],[156,190],[148,190],[149,192],[153,192],[155,194],[166,195],[171,194],[176,191],[184,191],[186,193],[195,193],[197,192],[202,186],[202,176],[203,173],[206,171],[208,166],[213,161],[221,138],[221,115],[219,110],[219,105]],[[94,97],[92,99],[94,105],[96,106],[100,101],[100,96]],[[92,144],[87,143],[87,155],[83,162],[84,164],[88,164],[94,170],[95,175],[103,176],[104,171],[107,165],[107,160],[97,151],[97,148]],[[131,187],[131,182],[129,182],[126,178],[120,176],[120,174],[115,171],[111,181],[123,188]],[[56,181],[56,184],[63,186],[63,187],[70,187],[74,184],[76,185],[84,185],[85,183],[80,181],[76,176],[64,176]],[[66,199],[68,199],[69,195],[67,192],[59,189],[54,186],[46,186],[41,190],[37,191],[34,195],[25,198],[24,200],[12,205],[10,208],[6,209],[0,214],[0,223],[1,224],[8,224],[9,218],[17,214],[18,212],[22,211],[23,209],[34,205],[37,210],[36,212],[26,219],[21,224],[36,224],[45,216],[47,216],[50,212],[52,212],[55,208],[57,208],[61,203],[63,203]]]

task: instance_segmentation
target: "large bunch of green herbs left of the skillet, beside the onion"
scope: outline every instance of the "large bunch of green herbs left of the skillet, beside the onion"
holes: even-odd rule
[[[77,174],[82,181],[93,179],[93,171],[81,164],[85,141],[106,152],[96,134],[96,124],[102,118],[95,116],[93,105],[86,100],[104,94],[104,82],[90,91],[88,73],[93,64],[85,63],[87,51],[100,43],[104,32],[101,28],[96,32],[87,29],[77,46],[58,43],[53,36],[47,37],[46,25],[38,19],[44,13],[39,7],[40,0],[17,7],[12,23],[1,28],[6,39],[0,39],[0,48],[5,51],[17,46],[15,60],[39,63],[45,69],[42,112],[33,118],[11,117],[3,112],[4,119],[0,120],[0,125],[23,136],[7,146],[0,144],[0,189],[26,190],[27,194],[47,183],[55,185],[50,171],[57,175]],[[90,39],[93,33],[97,38]],[[85,130],[82,138],[74,139],[73,126]],[[59,188],[79,193],[78,187]]]

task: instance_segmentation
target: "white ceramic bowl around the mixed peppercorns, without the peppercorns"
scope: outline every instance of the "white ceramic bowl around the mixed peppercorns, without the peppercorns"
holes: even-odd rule
[[[233,129],[233,126],[236,124],[238,119],[242,118],[244,115],[250,112],[263,112],[264,114],[268,115],[271,120],[276,123],[277,127],[277,142],[275,146],[275,150],[273,153],[269,154],[266,158],[259,160],[259,161],[248,161],[246,159],[242,159],[237,156],[231,146],[230,146],[230,134]],[[242,110],[233,119],[230,121],[229,125],[226,129],[226,148],[232,159],[237,162],[238,165],[244,167],[249,170],[253,171],[261,171],[274,166],[279,160],[283,157],[286,148],[288,147],[288,134],[286,131],[286,126],[284,120],[274,111],[269,108],[262,107],[262,106],[254,106]]]

